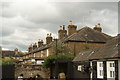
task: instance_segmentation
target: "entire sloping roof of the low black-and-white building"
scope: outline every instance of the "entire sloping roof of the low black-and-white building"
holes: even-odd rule
[[[73,61],[120,58],[120,37],[108,41],[103,47],[81,52]]]

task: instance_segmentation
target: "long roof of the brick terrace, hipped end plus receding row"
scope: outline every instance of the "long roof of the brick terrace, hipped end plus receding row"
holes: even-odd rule
[[[76,33],[58,40],[58,43],[62,43],[62,42],[66,42],[66,41],[75,41],[75,42],[77,42],[77,41],[86,42],[87,41],[87,42],[94,42],[94,43],[95,42],[105,43],[105,42],[107,42],[107,40],[109,40],[111,38],[112,38],[111,36],[109,36],[105,33],[98,32],[89,27],[84,27],[84,28],[78,30]],[[28,54],[42,51],[44,49],[48,49],[53,44],[55,44],[55,41],[52,41],[50,44],[44,45],[40,48],[36,48],[35,50],[29,52]],[[27,55],[27,54],[25,54],[25,55]]]

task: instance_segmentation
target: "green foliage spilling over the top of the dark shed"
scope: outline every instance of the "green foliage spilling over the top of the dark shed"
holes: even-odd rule
[[[65,55],[53,55],[53,56],[48,56],[43,63],[43,66],[46,68],[49,68],[52,64],[53,61],[56,59],[73,59],[74,56],[72,54],[65,54]]]

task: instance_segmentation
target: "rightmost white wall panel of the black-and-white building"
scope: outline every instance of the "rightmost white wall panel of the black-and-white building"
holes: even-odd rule
[[[115,73],[115,67],[110,67],[110,63],[114,63],[115,64],[114,61],[107,61],[107,78],[115,80],[115,75],[114,75],[114,77],[110,76],[110,72],[111,71],[114,71],[114,73]]]

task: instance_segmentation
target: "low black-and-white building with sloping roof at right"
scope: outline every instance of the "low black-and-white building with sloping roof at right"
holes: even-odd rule
[[[74,78],[120,80],[120,35],[103,47],[80,52],[73,60]]]

